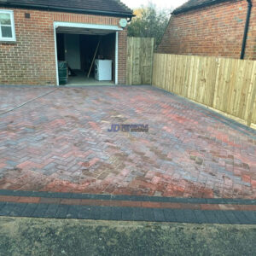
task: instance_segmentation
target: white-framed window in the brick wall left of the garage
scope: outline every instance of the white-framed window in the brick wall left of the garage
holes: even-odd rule
[[[0,41],[15,41],[15,19],[11,10],[0,10]]]

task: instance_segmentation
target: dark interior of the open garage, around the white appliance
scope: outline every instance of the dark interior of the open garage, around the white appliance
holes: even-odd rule
[[[115,32],[103,35],[57,32],[58,61],[66,61],[68,66],[67,85],[113,84],[115,80],[115,37]],[[96,79],[97,68],[94,60],[108,60],[111,79]]]

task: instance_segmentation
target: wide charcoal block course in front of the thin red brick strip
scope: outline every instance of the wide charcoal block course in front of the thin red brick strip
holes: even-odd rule
[[[55,204],[0,204],[0,216],[30,218],[78,218],[196,224],[256,224],[256,212],[201,211],[133,207],[100,207]]]

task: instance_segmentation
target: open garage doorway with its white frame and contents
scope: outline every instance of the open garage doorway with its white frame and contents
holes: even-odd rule
[[[118,84],[119,26],[55,22],[58,85]],[[67,83],[60,65],[66,63]],[[67,72],[66,72],[67,70]]]

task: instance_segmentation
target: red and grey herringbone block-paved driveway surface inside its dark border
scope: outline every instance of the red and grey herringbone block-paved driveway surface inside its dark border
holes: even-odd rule
[[[162,90],[2,86],[0,112],[0,189],[256,199],[256,132]]]

